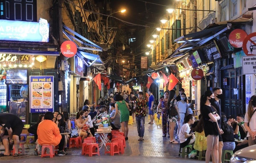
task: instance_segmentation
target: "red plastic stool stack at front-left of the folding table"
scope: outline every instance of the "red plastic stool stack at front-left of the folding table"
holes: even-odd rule
[[[98,154],[100,156],[99,145],[95,142],[95,137],[85,138],[82,146],[82,155],[88,154],[89,157],[92,157],[93,154]]]

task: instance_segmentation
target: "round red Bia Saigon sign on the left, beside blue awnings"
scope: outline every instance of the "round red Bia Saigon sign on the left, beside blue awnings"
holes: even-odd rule
[[[76,55],[77,47],[73,41],[64,41],[60,46],[60,51],[65,57],[71,58]]]

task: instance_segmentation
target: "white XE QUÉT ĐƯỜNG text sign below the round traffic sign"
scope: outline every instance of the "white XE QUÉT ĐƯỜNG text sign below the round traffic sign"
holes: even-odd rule
[[[243,74],[256,74],[256,56],[242,57]]]

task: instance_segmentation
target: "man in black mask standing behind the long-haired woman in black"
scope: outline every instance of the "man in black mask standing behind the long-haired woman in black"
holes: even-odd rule
[[[222,94],[222,89],[220,87],[215,87],[214,89],[212,89],[212,92],[214,93],[214,98],[215,100],[213,102],[211,102],[211,105],[213,107],[215,107],[215,109],[217,110],[217,114],[221,117],[221,108],[220,108],[220,99],[222,99],[223,94]],[[221,130],[221,118],[218,120],[218,125],[220,127]],[[223,131],[221,130],[222,134]],[[222,147],[223,147],[223,141],[222,141],[222,137],[219,134],[219,163],[221,163],[221,155],[222,155]],[[214,159],[214,158],[213,158]]]

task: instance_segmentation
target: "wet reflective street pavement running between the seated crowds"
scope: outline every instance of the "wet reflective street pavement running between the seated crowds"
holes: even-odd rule
[[[154,124],[148,124],[148,118],[145,118],[145,134],[144,141],[138,141],[137,126],[134,122],[132,125],[128,125],[129,133],[128,140],[126,140],[126,148],[124,149],[124,154],[109,156],[104,155],[105,149],[102,148],[100,151],[100,156],[88,157],[81,155],[81,148],[71,148],[68,149],[68,155],[66,156],[55,156],[53,159],[41,158],[39,156],[33,156],[33,146],[29,146],[26,149],[26,155],[19,157],[5,156],[1,157],[1,162],[41,162],[47,161],[48,163],[61,161],[62,163],[77,162],[77,161],[93,161],[93,162],[120,162],[123,163],[137,163],[137,162],[152,162],[152,163],[162,163],[162,162],[202,162],[197,159],[181,158],[179,154],[179,144],[170,144],[168,137],[162,137],[162,126]],[[1,151],[3,150],[3,145],[1,145]]]

